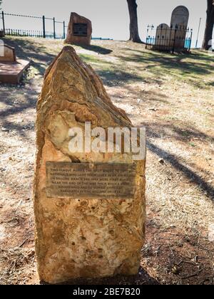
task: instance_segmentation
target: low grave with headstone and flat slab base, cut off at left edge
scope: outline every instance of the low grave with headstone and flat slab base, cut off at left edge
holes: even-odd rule
[[[15,48],[0,41],[0,82],[18,84],[24,73],[29,68],[30,62],[16,59]]]

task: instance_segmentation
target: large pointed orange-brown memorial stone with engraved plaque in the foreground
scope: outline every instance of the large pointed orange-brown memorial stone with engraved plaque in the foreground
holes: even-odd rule
[[[87,135],[89,123],[93,137],[83,142],[83,151],[71,152],[74,128]],[[97,127],[106,132],[132,125],[91,66],[66,46],[46,71],[37,104],[36,257],[39,277],[47,283],[138,273],[145,238],[146,152],[136,160],[133,150],[86,150],[96,141]],[[99,138],[106,149],[106,140]]]

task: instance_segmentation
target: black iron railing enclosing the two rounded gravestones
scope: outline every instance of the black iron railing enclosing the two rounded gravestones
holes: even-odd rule
[[[190,51],[193,29],[184,26],[168,26],[161,24],[157,28],[148,25],[146,48],[158,51],[181,52]]]

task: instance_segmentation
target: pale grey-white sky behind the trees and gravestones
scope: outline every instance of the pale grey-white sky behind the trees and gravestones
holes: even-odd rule
[[[170,25],[170,16],[178,5],[187,6],[190,11],[189,26],[193,28],[193,46],[198,33],[199,20],[202,18],[199,43],[203,41],[206,18],[206,0],[137,0],[138,26],[141,39],[146,40],[148,24],[158,26],[160,23]],[[3,0],[2,9],[10,14],[55,17],[57,21],[68,24],[71,11],[86,16],[93,24],[93,37],[128,40],[129,16],[126,0]],[[1,21],[1,20],[0,20]],[[41,30],[41,20],[6,16],[6,28]],[[0,23],[1,27],[1,23]],[[52,31],[53,23],[47,21],[46,30]],[[57,24],[56,31],[62,31]]]

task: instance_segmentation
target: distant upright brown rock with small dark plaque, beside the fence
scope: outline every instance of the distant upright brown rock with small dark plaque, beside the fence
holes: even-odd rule
[[[76,13],[71,13],[65,43],[88,46],[91,44],[91,34],[91,21]]]

